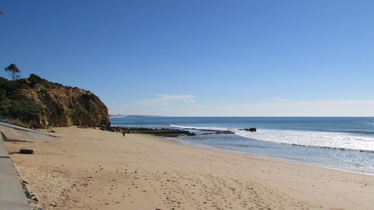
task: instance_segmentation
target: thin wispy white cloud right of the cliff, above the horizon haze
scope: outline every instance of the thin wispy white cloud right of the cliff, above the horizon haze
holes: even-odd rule
[[[193,104],[195,101],[193,95],[157,95],[159,98],[145,98],[141,101],[135,101],[134,105],[141,106],[167,106],[171,105],[170,101],[182,101],[186,104]]]

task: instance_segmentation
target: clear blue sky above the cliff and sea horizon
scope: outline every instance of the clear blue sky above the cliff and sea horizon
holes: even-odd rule
[[[1,68],[90,90],[110,114],[374,116],[374,1],[5,0],[0,11]]]

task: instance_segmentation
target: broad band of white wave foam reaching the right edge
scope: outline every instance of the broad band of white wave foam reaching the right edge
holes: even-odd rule
[[[244,138],[265,142],[374,152],[374,137],[352,135],[351,133],[263,129],[257,130],[257,132],[236,129],[233,131],[236,135]]]

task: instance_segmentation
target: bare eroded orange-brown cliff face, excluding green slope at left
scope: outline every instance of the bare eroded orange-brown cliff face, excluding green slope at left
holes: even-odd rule
[[[34,74],[17,82],[19,86],[9,93],[8,98],[33,101],[42,107],[37,117],[22,116],[33,127],[44,128],[51,123],[64,127],[101,124],[110,126],[108,108],[87,90],[51,83]]]

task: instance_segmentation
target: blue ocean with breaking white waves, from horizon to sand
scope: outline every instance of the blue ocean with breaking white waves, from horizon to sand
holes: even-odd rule
[[[119,117],[112,126],[214,129],[169,138],[184,145],[374,174],[374,117]],[[244,128],[255,127],[257,132]]]

